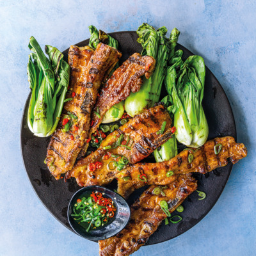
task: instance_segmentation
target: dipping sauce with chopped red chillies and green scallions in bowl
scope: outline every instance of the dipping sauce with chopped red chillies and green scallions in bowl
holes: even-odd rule
[[[115,218],[116,207],[113,200],[104,193],[93,191],[77,199],[72,211],[72,218],[86,232],[109,225]]]

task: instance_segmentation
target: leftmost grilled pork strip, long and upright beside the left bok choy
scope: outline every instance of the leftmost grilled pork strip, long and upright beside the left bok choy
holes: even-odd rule
[[[63,114],[58,129],[52,134],[46,158],[47,166],[56,179],[60,179],[61,173],[72,169],[84,140],[88,138],[90,115],[99,86],[121,55],[115,48],[105,44],[97,45],[94,52],[90,47],[70,47],[68,64],[71,67],[72,94],[68,97],[72,96],[72,100],[63,107]],[[68,131],[63,131],[67,114],[70,113],[75,118],[72,118]]]

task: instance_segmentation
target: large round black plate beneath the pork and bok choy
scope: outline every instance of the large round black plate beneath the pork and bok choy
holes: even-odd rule
[[[135,31],[122,31],[111,33],[110,35],[118,40],[120,45],[119,50],[123,54],[121,63],[134,52],[141,52],[141,45],[136,42],[138,36]],[[89,40],[84,40],[76,45],[84,46],[88,45],[88,42]],[[182,47],[182,45],[178,44],[177,49],[184,51],[184,58],[193,55],[192,52]],[[63,54],[67,60],[68,49]],[[164,95],[166,95],[166,92],[163,86],[161,99]],[[33,136],[29,131],[27,125],[29,98],[30,95],[24,107],[20,128],[20,145],[24,166],[29,180],[41,202],[57,220],[72,230],[67,220],[68,202],[80,187],[74,179],[70,179],[66,183],[63,180],[55,180],[49,170],[47,170],[44,159],[50,138],[38,138]],[[203,106],[209,124],[209,139],[219,136],[233,136],[236,139],[236,125],[227,96],[216,77],[214,77],[208,68],[206,68],[205,75]],[[198,179],[198,190],[204,191],[207,194],[205,200],[198,200],[198,193],[196,192],[190,195],[182,204],[184,206],[184,212],[179,213],[183,218],[182,221],[178,224],[171,223],[169,225],[162,223],[157,232],[150,236],[147,244],[161,243],[179,236],[196,225],[198,221],[202,220],[220,197],[231,170],[232,163],[228,163],[227,166],[218,168],[211,173],[207,173],[207,175],[196,173],[195,177]],[[112,188],[113,186],[115,186],[115,182],[114,185],[112,184]],[[138,197],[141,191],[139,189],[131,195],[129,202],[131,203],[134,198]]]

